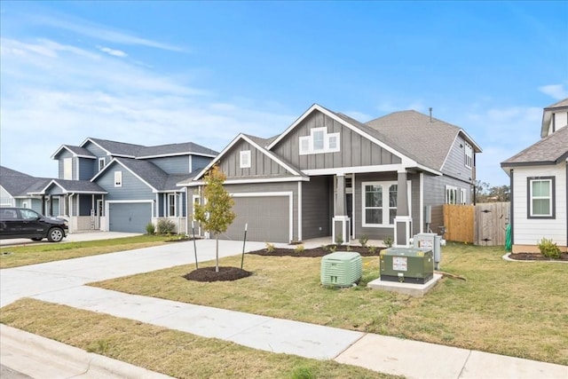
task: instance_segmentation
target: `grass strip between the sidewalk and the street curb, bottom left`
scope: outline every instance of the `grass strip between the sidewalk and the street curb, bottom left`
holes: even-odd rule
[[[215,338],[23,299],[0,322],[178,378],[395,378],[332,360],[258,351]]]

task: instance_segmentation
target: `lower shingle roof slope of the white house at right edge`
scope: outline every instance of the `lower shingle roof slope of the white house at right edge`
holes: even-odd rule
[[[555,164],[568,157],[568,126],[564,126],[532,146],[501,162],[501,167]]]

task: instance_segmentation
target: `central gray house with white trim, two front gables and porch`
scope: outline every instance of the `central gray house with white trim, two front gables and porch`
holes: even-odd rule
[[[444,203],[472,202],[480,152],[465,130],[431,114],[361,123],[315,104],[279,136],[238,135],[179,186],[188,202],[206,201],[204,175],[214,164],[225,172],[237,217],[222,238],[241,239],[248,225],[252,241],[366,235],[404,246],[415,233],[439,232]]]

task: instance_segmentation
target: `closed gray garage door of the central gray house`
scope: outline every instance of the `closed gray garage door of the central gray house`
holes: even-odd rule
[[[290,241],[289,196],[237,196],[233,197],[233,212],[237,217],[222,238],[242,240],[245,224],[248,224],[248,241]]]

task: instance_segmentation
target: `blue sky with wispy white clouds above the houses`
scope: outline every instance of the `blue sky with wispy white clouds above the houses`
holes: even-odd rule
[[[318,103],[367,122],[415,109],[484,150],[477,178],[540,138],[568,97],[567,2],[0,4],[0,164],[56,177],[105,138],[222,150]]]

